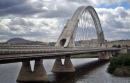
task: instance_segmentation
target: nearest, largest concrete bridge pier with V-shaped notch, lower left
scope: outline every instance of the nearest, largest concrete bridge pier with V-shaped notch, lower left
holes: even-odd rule
[[[43,66],[42,60],[36,60],[34,71],[31,71],[30,61],[22,62],[17,82],[47,82],[49,78]]]

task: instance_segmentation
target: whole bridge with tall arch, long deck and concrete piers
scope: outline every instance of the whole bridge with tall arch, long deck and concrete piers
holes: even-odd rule
[[[97,42],[92,45],[91,40],[95,40],[95,37]],[[52,72],[74,72],[70,56],[97,53],[99,59],[110,59],[120,50],[105,45],[104,33],[95,9],[92,6],[81,6],[67,21],[55,46],[1,45],[0,64],[22,62],[17,82],[45,82],[49,78],[43,59],[56,59]],[[65,59],[64,64],[61,58]],[[30,60],[35,60],[34,71],[31,71]]]

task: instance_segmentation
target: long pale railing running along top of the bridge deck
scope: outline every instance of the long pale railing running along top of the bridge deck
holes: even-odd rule
[[[72,52],[72,51],[89,51],[99,50],[102,47],[75,47],[64,48],[60,46],[40,46],[40,45],[2,45],[0,54],[24,54],[24,53],[51,53],[51,52]]]

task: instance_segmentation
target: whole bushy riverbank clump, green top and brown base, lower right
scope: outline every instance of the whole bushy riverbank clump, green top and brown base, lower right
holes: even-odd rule
[[[121,77],[130,77],[130,55],[122,54],[110,60],[108,72]]]

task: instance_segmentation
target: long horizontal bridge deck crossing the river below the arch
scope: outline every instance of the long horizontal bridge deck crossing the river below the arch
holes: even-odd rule
[[[25,51],[26,50],[26,51]],[[119,51],[118,48],[95,48],[95,49],[0,49],[0,64],[22,62],[25,60],[51,59],[62,56],[72,56],[86,53]]]

